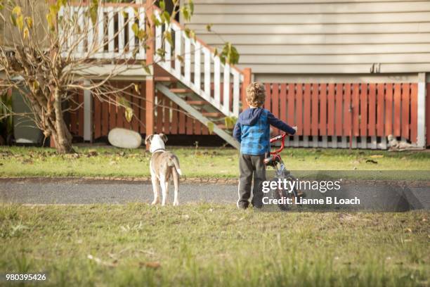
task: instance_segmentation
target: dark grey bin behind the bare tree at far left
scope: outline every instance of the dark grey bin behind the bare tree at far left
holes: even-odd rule
[[[19,91],[12,92],[12,110],[14,113],[27,115],[13,115],[13,136],[16,144],[41,145],[44,139],[43,132],[37,127],[32,118],[32,110]],[[31,118],[30,118],[31,117]]]

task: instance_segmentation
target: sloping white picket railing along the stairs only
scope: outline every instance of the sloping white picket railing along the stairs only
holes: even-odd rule
[[[155,15],[159,17],[157,9]],[[171,33],[173,46],[163,37],[164,31]],[[155,28],[155,51],[158,49],[165,51],[164,58],[155,56],[155,61],[164,70],[224,115],[239,115],[240,85],[243,82],[240,70],[228,63],[221,63],[221,58],[209,46],[199,39],[188,37],[183,27],[174,21]]]

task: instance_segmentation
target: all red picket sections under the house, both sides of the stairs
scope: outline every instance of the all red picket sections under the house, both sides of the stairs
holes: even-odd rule
[[[117,87],[126,84],[117,82]],[[299,136],[400,136],[417,140],[417,84],[297,84],[266,83],[265,108],[287,122],[297,125]],[[221,89],[222,91],[222,89]],[[426,115],[430,115],[430,83],[427,84]],[[107,136],[110,129],[124,127],[145,134],[145,82],[139,93],[129,88],[135,117],[127,122],[124,108],[93,100],[93,138]],[[84,134],[83,93],[74,96],[70,112],[70,131]],[[166,96],[158,93],[155,103],[155,132],[165,134],[207,135],[207,127]],[[220,122],[221,123],[221,122]],[[426,117],[426,142],[430,146],[430,116]]]

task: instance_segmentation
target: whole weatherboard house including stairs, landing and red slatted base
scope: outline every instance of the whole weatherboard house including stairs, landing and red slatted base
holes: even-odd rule
[[[213,131],[237,147],[224,119],[237,117],[245,106],[244,88],[259,81],[266,85],[265,107],[299,127],[289,146],[384,149],[389,134],[417,147],[430,146],[430,1],[194,3],[187,27],[195,30],[196,39],[187,36],[181,18],[169,26],[147,27],[155,41],[138,57],[154,63],[152,75],[128,71],[118,77],[119,87],[136,83],[129,94],[140,97],[128,96],[133,120],[126,122],[122,108],[83,91],[77,102],[84,106],[70,114],[72,134],[93,141],[113,127],[189,138]],[[99,17],[112,23],[105,37],[115,38],[133,8],[159,13],[150,4],[100,7]],[[173,45],[162,42],[166,30]],[[119,32],[99,56],[115,56],[133,37]],[[214,53],[224,42],[237,47],[238,65],[223,64]],[[162,46],[164,58],[155,53]]]

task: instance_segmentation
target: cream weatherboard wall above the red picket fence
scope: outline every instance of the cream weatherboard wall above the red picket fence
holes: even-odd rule
[[[191,23],[210,46],[233,43],[256,74],[430,70],[430,1],[195,0]]]

